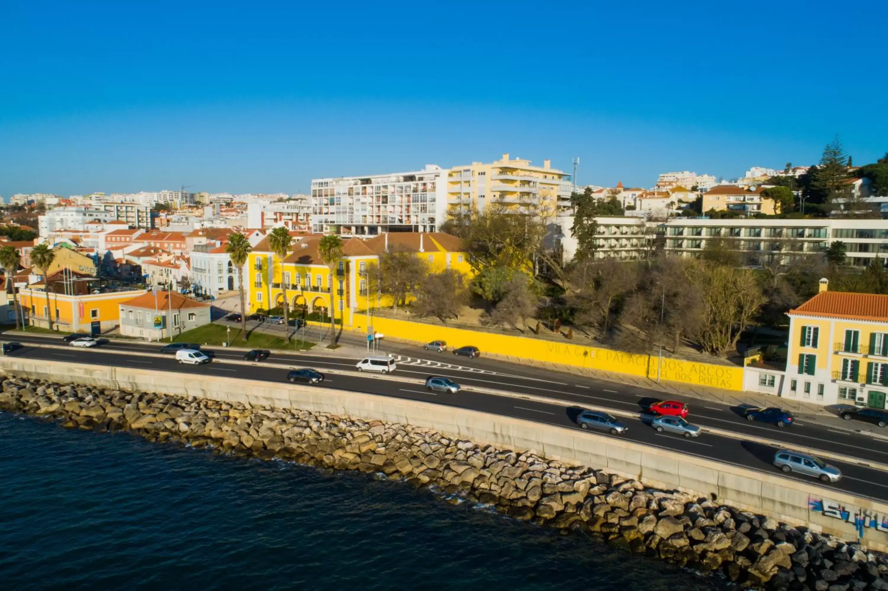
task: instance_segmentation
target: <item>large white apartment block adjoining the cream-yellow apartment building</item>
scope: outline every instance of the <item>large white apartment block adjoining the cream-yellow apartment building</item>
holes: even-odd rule
[[[447,209],[446,174],[440,166],[427,164],[415,172],[315,178],[312,230],[354,235],[436,232]]]

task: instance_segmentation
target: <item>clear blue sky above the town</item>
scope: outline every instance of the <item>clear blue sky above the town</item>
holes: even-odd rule
[[[0,194],[305,192],[512,156],[581,184],[888,151],[888,3],[0,0]]]

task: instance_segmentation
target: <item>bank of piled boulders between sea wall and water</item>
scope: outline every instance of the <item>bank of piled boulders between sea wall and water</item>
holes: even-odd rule
[[[589,533],[745,587],[888,589],[888,559],[831,536],[534,453],[409,425],[268,406],[7,379],[0,410],[72,429],[127,430],[152,441],[327,469],[383,473],[449,500]]]

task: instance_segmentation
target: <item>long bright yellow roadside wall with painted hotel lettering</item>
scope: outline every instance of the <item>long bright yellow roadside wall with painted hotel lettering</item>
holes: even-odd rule
[[[436,327],[407,320],[373,318],[370,322],[377,333],[414,343],[442,340],[447,341],[450,349],[474,345],[481,350],[481,355],[494,353],[616,374],[638,375],[652,380],[657,377],[656,355],[624,353],[524,336],[495,335],[463,328]],[[366,334],[366,317],[355,314],[352,329]],[[743,368],[737,366],[663,358],[660,378],[725,390],[743,390]]]

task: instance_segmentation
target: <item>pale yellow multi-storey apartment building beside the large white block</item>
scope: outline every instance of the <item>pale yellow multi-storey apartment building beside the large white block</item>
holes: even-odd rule
[[[489,164],[455,166],[447,171],[446,182],[448,217],[483,210],[494,202],[516,213],[538,208],[555,215],[570,209],[571,177],[551,168],[548,160],[540,167],[503,154]]]

